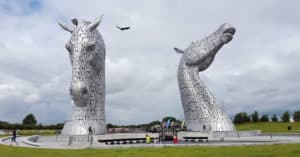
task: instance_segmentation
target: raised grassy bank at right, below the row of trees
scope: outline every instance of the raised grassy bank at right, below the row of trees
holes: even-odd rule
[[[292,126],[292,130],[287,127]],[[262,133],[300,133],[300,122],[294,123],[280,123],[280,122],[258,122],[258,123],[245,123],[236,124],[236,130],[261,130]]]

